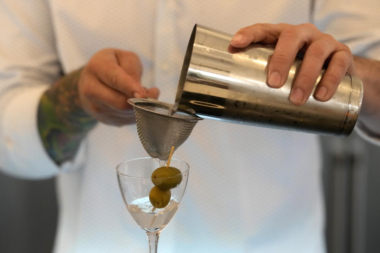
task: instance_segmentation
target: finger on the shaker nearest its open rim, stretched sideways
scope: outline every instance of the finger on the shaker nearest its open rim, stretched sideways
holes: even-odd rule
[[[274,44],[277,42],[280,33],[291,27],[289,24],[254,24],[238,30],[231,40],[234,47],[246,47],[252,42],[263,42]]]

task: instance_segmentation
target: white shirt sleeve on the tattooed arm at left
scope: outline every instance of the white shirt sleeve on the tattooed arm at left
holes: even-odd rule
[[[81,167],[85,143],[72,161],[57,166],[38,132],[41,95],[60,76],[48,1],[2,0],[0,24],[0,170],[43,179]]]

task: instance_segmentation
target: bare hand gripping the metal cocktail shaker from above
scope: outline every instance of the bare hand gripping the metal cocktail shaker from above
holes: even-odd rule
[[[254,24],[237,31],[231,45],[245,47],[252,42],[277,43],[268,71],[268,84],[273,88],[282,87],[298,51],[305,52],[290,92],[290,101],[296,105],[307,101],[326,61],[328,68],[314,93],[319,101],[332,98],[346,73],[354,76],[356,73],[348,46],[320,32],[313,24]]]

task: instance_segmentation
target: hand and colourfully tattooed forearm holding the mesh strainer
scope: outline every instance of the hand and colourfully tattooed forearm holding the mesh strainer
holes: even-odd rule
[[[38,131],[55,163],[73,159],[97,120],[118,126],[131,123],[128,98],[157,98],[157,88],[141,86],[141,71],[134,53],[103,49],[84,68],[62,76],[44,92],[38,104]]]

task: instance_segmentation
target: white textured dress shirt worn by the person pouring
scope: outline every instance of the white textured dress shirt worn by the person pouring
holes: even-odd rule
[[[55,253],[147,252],[116,180],[117,164],[147,156],[135,125],[99,123],[60,168],[44,150],[37,106],[60,71],[105,47],[133,51],[142,84],[173,103],[195,23],[235,33],[259,22],[314,22],[354,53],[379,59],[379,7],[377,0],[2,0],[0,167],[22,178],[57,177]],[[203,120],[174,157],[190,164],[190,177],[158,252],[325,252],[317,136]]]

